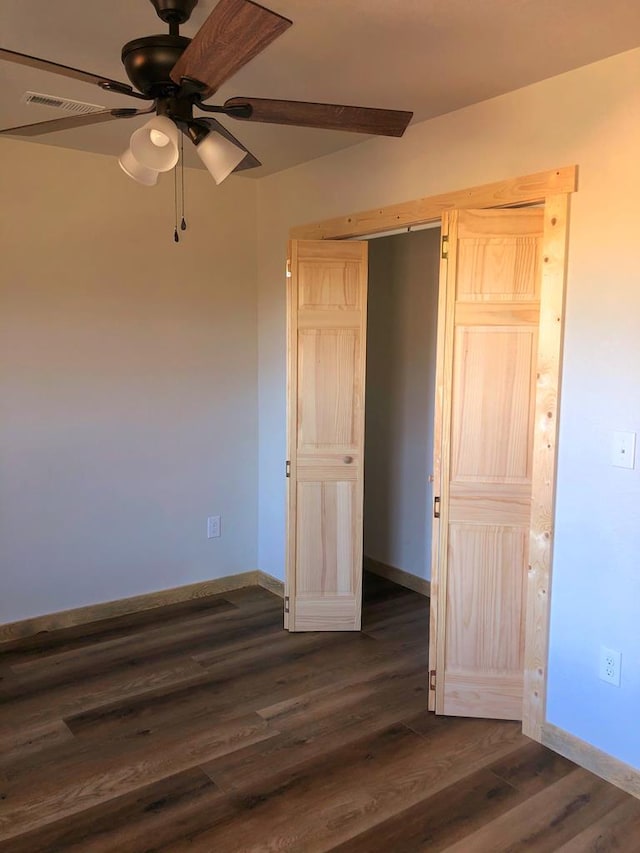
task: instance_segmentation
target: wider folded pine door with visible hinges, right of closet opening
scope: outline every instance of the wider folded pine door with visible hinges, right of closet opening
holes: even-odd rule
[[[432,705],[521,719],[543,210],[454,211],[443,235]]]

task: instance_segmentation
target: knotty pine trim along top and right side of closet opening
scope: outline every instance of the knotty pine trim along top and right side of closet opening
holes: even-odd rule
[[[446,210],[544,204],[543,264],[533,437],[529,570],[525,602],[525,671],[522,730],[537,741],[546,723],[547,659],[553,520],[556,491],[558,404],[569,201],[578,167],[565,166],[436,196],[348,214],[290,229],[291,239],[339,240],[409,229],[441,220]],[[441,278],[441,281],[443,279]],[[440,294],[442,297],[442,293]],[[438,330],[438,338],[440,338]],[[441,377],[442,381],[442,377]],[[436,377],[436,398],[438,397]],[[436,430],[439,426],[436,399]],[[434,435],[434,440],[437,436]],[[436,474],[437,472],[434,472]],[[435,565],[432,569],[435,568]],[[437,578],[431,580],[432,587]]]

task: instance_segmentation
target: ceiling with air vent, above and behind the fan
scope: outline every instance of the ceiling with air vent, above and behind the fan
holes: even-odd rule
[[[181,32],[215,6],[199,0]],[[234,95],[441,115],[640,45],[638,0],[265,0],[294,25],[212,99]],[[2,0],[2,47],[128,82],[122,45],[166,32],[149,0]],[[141,102],[0,61],[0,127],[58,118],[26,90],[111,106]],[[640,85],[640,81],[638,81]],[[114,121],[34,141],[119,154],[134,124]],[[360,134],[225,119],[264,164],[261,176],[361,142]],[[185,149],[185,152],[187,149]],[[201,165],[189,152],[189,165]]]

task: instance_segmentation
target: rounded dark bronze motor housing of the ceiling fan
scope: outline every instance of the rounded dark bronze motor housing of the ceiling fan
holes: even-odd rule
[[[122,62],[129,80],[145,95],[159,97],[176,88],[170,72],[191,39],[185,36],[145,36],[127,42]]]

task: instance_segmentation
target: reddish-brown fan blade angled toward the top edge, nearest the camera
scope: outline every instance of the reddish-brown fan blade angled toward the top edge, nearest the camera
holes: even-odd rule
[[[291,23],[252,0],[220,0],[173,66],[171,79],[178,85],[183,77],[199,80],[208,98]]]

